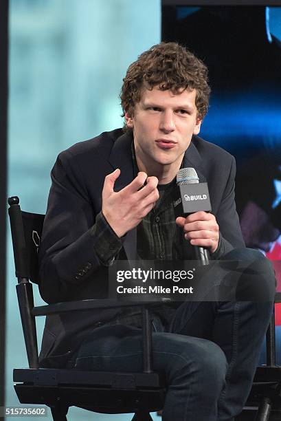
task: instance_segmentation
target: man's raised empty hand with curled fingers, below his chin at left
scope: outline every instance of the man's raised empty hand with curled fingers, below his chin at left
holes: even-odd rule
[[[120,169],[116,169],[104,179],[102,213],[116,235],[122,237],[150,212],[159,193],[157,177],[148,177],[144,172],[138,173],[128,186],[115,192],[114,184],[119,176]]]

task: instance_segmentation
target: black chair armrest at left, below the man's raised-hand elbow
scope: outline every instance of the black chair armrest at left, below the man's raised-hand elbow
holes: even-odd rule
[[[76,312],[80,310],[91,310],[94,308],[115,308],[115,307],[147,307],[155,304],[152,301],[116,301],[111,299],[91,299],[80,301],[66,301],[64,303],[39,305],[33,307],[32,316],[48,316],[49,314],[60,314],[65,312]]]

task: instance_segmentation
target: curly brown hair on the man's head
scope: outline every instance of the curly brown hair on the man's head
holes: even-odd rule
[[[186,47],[164,42],[153,45],[128,67],[120,93],[122,116],[125,112],[133,116],[143,87],[159,86],[162,91],[170,89],[173,94],[180,89],[196,89],[195,104],[199,118],[203,119],[211,91],[207,74],[204,63]]]

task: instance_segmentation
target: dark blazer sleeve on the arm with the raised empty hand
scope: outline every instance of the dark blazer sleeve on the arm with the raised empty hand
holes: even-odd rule
[[[39,289],[49,303],[74,299],[71,285],[84,283],[102,266],[101,237],[112,255],[122,248],[102,214],[95,215],[87,182],[70,151],[58,155],[51,177],[39,250]]]

